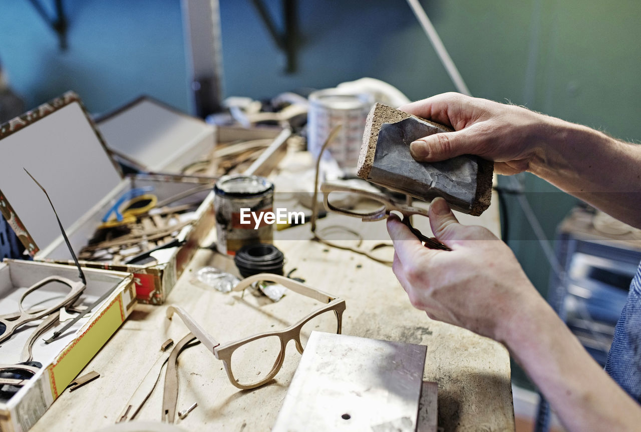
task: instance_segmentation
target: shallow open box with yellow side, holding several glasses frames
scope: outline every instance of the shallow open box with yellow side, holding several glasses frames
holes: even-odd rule
[[[81,304],[88,306],[106,292],[112,291],[111,294],[51,344],[44,344],[43,339],[56,328],[37,338],[33,360],[42,363],[42,368],[10,399],[0,400],[1,431],[25,432],[31,428],[133,310],[136,301],[131,274],[87,268],[83,272],[87,286]],[[0,263],[0,315],[17,312],[22,293],[48,276],[78,281],[78,267],[25,260]],[[60,283],[47,284],[27,295],[22,307],[25,310],[53,307],[61,296],[69,293],[68,287],[62,287]],[[24,324],[2,342],[0,363],[13,365],[25,360],[24,345],[40,321]],[[56,325],[62,326],[60,322]]]

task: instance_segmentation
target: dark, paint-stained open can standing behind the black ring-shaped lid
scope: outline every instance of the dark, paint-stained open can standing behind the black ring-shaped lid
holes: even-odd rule
[[[271,243],[274,229],[264,219],[256,228],[253,215],[272,212],[274,184],[259,176],[235,174],[222,176],[213,187],[213,206],[216,212],[216,245],[218,251],[235,255],[248,244]],[[249,210],[242,210],[249,209]],[[247,212],[253,213],[251,216]],[[244,214],[244,218],[241,219]],[[247,222],[249,223],[241,223]]]

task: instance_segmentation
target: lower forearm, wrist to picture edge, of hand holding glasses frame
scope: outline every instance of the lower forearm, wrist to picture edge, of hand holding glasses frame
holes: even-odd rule
[[[505,342],[569,431],[632,431],[641,424],[641,407],[547,304],[518,315]]]

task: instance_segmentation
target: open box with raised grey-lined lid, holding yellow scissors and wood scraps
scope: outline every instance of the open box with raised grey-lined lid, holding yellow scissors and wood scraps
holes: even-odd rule
[[[37,261],[71,263],[56,219],[42,191],[23,167],[46,188],[71,245],[78,251],[119,197],[135,187],[151,186],[158,200],[171,197],[211,179],[180,176],[123,177],[108,156],[78,96],[68,92],[0,126],[0,212],[17,233],[26,252]],[[180,229],[179,247],[154,253],[155,265],[123,265],[82,261],[85,267],[134,274],[138,301],[161,304],[192,258],[200,240],[213,228],[213,192],[199,200],[194,221]],[[179,202],[176,202],[179,204]]]

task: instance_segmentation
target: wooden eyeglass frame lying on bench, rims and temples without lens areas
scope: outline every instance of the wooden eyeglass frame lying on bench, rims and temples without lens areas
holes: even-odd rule
[[[287,344],[290,342],[290,340],[294,340],[294,342],[296,343],[296,349],[300,354],[303,354],[303,345],[301,344],[301,329],[303,328],[304,324],[306,324],[306,322],[308,322],[313,317],[316,317],[321,313],[333,310],[337,317],[337,334],[340,334],[342,330],[342,316],[343,312],[345,311],[345,301],[343,299],[333,297],[332,295],[317,290],[316,288],[308,287],[307,285],[294,281],[293,279],[285,278],[285,276],[268,273],[255,274],[254,276],[249,276],[249,278],[242,279],[242,281],[240,281],[238,285],[236,285],[232,290],[242,291],[252,285],[254,282],[260,281],[279,283],[280,285],[283,285],[283,287],[289,288],[290,290],[297,292],[298,294],[302,294],[306,297],[310,297],[312,299],[320,301],[321,303],[326,303],[326,305],[322,306],[312,313],[309,313],[308,315],[306,315],[306,317],[299,320],[296,324],[289,326],[288,328],[279,331],[267,331],[265,333],[258,333],[258,335],[249,336],[247,338],[222,345],[220,342],[217,342],[217,340],[215,340],[205,329],[203,329],[200,324],[198,324],[196,320],[191,317],[191,315],[185,312],[183,308],[181,308],[180,306],[169,306],[167,308],[167,318],[171,319],[174,313],[181,317],[181,319],[185,323],[185,326],[187,326],[189,331],[194,336],[196,336],[196,338],[204,345],[204,347],[206,347],[208,351],[213,353],[213,355],[218,360],[222,360],[229,381],[242,390],[262,386],[263,384],[274,378],[276,374],[278,374],[278,371],[283,366],[283,360],[285,360],[285,347],[287,347]],[[281,342],[281,349],[278,354],[278,358],[276,358],[276,361],[274,362],[272,370],[265,376],[265,378],[256,383],[250,385],[238,383],[238,381],[236,381],[236,379],[234,378],[233,372],[231,371],[231,354],[233,354],[234,350],[241,345],[267,336],[278,336]]]

